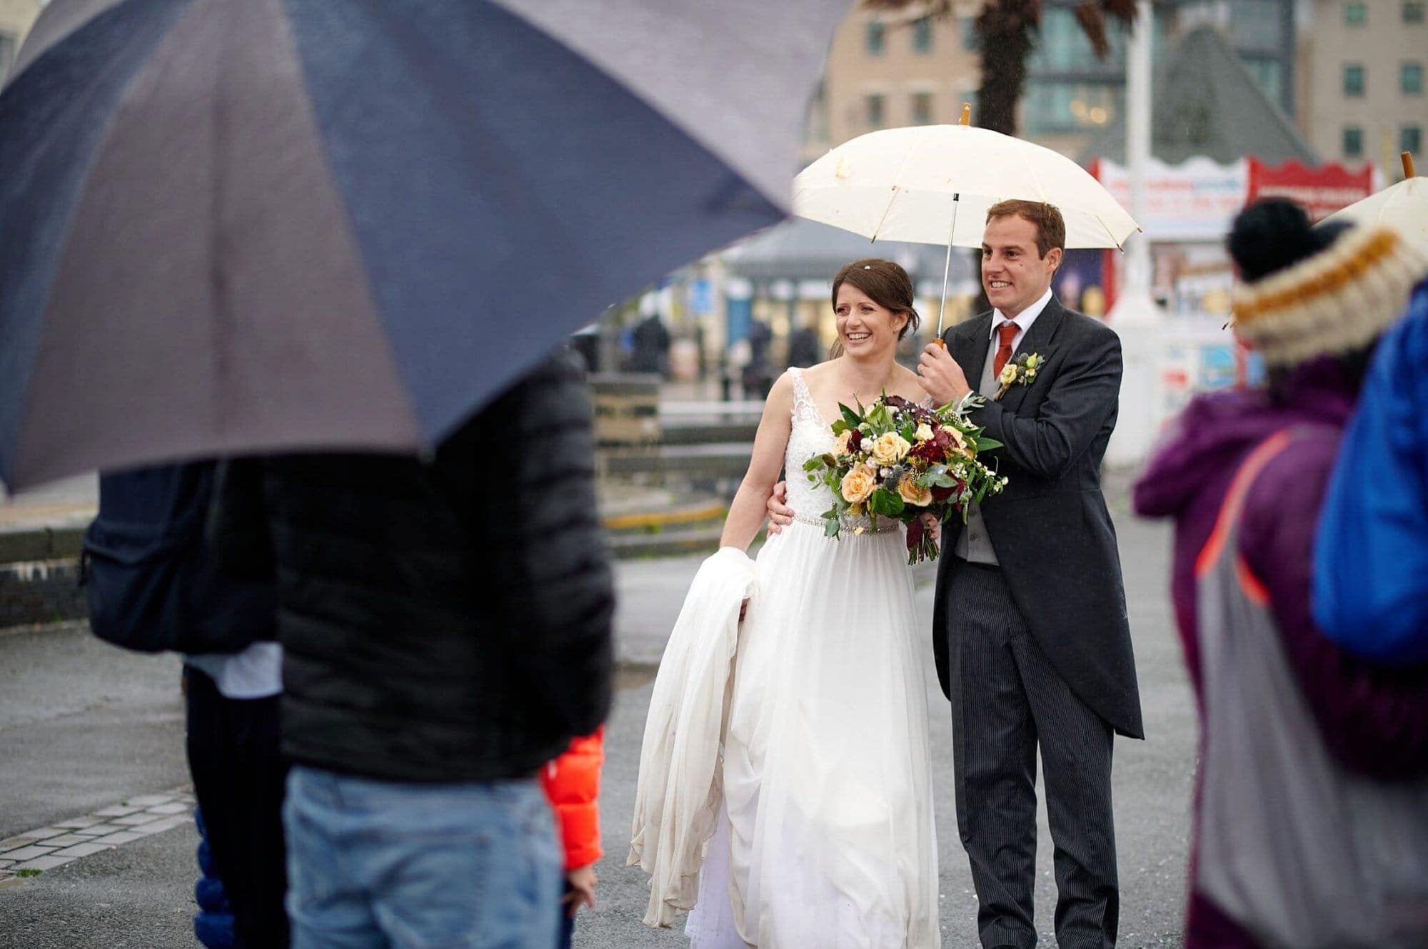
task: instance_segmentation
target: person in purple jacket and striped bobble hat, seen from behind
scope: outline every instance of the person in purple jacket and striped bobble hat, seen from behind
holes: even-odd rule
[[[1185,943],[1428,945],[1428,675],[1355,661],[1309,607],[1339,435],[1428,260],[1392,231],[1312,230],[1282,200],[1245,208],[1230,253],[1235,331],[1269,384],[1197,398],[1134,498],[1175,519],[1202,721]]]

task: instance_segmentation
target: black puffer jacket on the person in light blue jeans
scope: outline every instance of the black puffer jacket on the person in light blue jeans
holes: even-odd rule
[[[293,761],[514,778],[604,719],[614,594],[577,362],[541,367],[426,464],[227,465],[211,529],[230,568],[276,568]]]

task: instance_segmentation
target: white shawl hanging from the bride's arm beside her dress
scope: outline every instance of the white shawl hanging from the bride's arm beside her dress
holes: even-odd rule
[[[754,561],[725,547],[700,567],[670,634],[640,749],[628,865],[650,875],[647,926],[694,906],[723,782],[720,745],[738,646],[738,612]]]

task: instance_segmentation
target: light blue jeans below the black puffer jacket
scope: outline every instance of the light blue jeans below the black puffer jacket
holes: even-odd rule
[[[551,949],[560,845],[534,781],[418,785],[294,766],[293,949]]]

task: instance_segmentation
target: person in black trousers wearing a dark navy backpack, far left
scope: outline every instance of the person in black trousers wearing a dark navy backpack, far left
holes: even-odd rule
[[[129,649],[186,654],[188,773],[233,932],[240,945],[283,949],[277,604],[271,581],[221,571],[206,542],[216,467],[100,475],[99,514],[84,532],[90,628]]]

